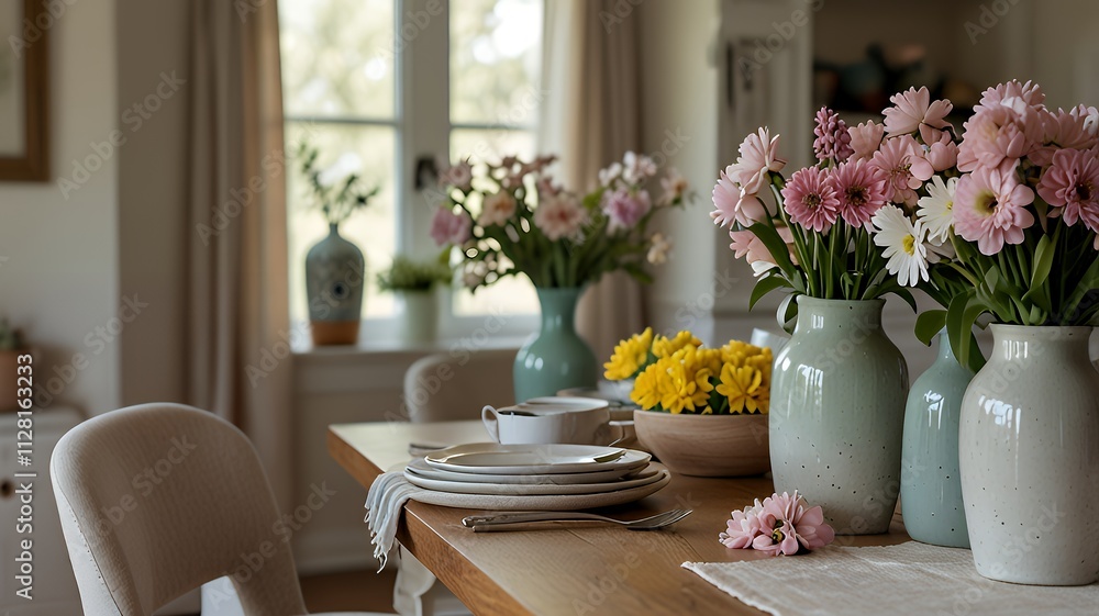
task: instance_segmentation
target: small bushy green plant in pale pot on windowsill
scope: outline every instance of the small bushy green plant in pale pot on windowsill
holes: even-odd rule
[[[446,254],[434,261],[417,261],[398,255],[388,270],[378,273],[378,289],[397,296],[401,316],[401,340],[431,343],[439,331],[439,299],[435,288],[448,285],[454,276]]]

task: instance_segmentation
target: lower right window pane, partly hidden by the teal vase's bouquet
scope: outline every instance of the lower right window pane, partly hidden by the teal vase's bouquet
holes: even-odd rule
[[[452,131],[451,159],[471,156],[475,160],[499,161],[508,155],[530,159],[535,155],[530,131]],[[454,313],[476,316],[492,313],[536,314],[539,296],[525,276],[509,277],[476,293],[463,289],[454,293]]]

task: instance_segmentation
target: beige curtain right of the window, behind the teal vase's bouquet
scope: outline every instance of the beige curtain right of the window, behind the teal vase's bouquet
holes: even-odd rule
[[[599,169],[641,148],[640,16],[621,0],[546,0],[539,148],[560,156],[565,186],[587,191]],[[577,327],[596,356],[643,327],[641,287],[604,277],[580,301]]]

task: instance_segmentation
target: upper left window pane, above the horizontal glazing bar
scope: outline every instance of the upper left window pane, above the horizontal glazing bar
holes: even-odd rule
[[[279,0],[290,116],[393,117],[393,0]]]

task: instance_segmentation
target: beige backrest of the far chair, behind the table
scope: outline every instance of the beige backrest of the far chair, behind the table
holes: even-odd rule
[[[404,373],[404,404],[412,423],[480,418],[486,404],[515,403],[512,366],[519,349],[440,352]]]

